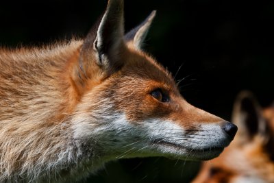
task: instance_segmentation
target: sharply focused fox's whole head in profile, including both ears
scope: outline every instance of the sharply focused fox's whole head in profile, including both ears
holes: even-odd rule
[[[108,1],[67,69],[77,99],[73,138],[102,160],[219,156],[237,127],[187,103],[169,71],[142,51],[154,16],[124,34],[123,0]]]

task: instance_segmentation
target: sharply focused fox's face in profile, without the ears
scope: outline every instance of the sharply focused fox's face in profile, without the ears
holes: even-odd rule
[[[148,71],[144,73],[142,67]],[[98,89],[88,93],[83,99],[88,103],[82,103],[79,116],[75,115],[86,119],[75,125],[75,138],[88,140],[101,136],[99,143],[105,143],[105,153],[116,152],[117,158],[164,155],[210,159],[218,156],[234,136],[230,123],[190,106],[179,95],[172,78],[151,58],[140,58],[126,65]],[[93,92],[99,96],[95,98]],[[96,124],[97,133],[92,124],[95,119],[90,117],[101,121]]]

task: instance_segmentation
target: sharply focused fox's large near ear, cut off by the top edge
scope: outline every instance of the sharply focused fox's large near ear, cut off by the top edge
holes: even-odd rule
[[[109,0],[102,19],[84,40],[79,59],[84,63],[83,66],[80,64],[82,70],[92,70],[94,61],[108,74],[122,66],[120,56],[125,47],[123,22],[123,0]]]

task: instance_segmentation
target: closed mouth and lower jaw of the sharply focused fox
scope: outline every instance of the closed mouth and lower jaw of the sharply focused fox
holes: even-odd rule
[[[190,147],[185,147],[182,145],[178,145],[175,143],[170,143],[166,141],[157,141],[154,142],[155,145],[160,145],[164,147],[172,148],[172,151],[176,151],[176,154],[180,154],[180,152],[184,152],[187,155],[189,160],[210,160],[212,158],[216,158],[219,156],[225,147],[207,147],[201,149],[195,149]],[[185,158],[183,158],[185,159]]]

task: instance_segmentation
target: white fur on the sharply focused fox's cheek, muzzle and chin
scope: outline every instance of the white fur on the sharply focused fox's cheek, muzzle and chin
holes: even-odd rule
[[[184,127],[170,120],[129,121],[125,114],[114,111],[111,101],[106,100],[102,102],[104,104],[99,107],[100,110],[78,114],[72,119],[74,138],[82,139],[81,142],[87,143],[91,151],[101,154],[102,162],[136,156],[201,159],[203,156],[207,158],[221,153],[210,151],[210,148],[229,144],[218,123],[200,125],[197,132],[188,134]],[[99,121],[92,123],[92,117]],[[97,145],[101,149],[96,149]],[[204,149],[210,152],[203,151]]]

